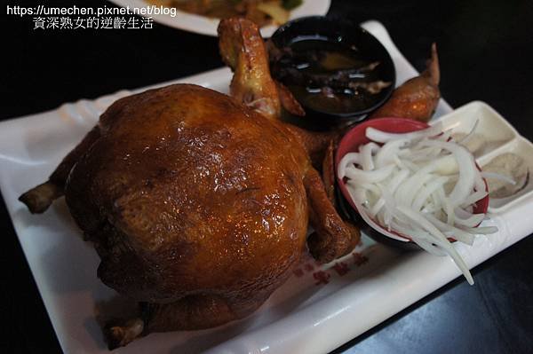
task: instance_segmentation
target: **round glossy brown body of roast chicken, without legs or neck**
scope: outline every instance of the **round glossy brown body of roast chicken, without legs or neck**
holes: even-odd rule
[[[101,257],[99,278],[147,302],[217,289],[253,307],[304,250],[306,153],[262,115],[199,86],[116,104],[65,191]]]

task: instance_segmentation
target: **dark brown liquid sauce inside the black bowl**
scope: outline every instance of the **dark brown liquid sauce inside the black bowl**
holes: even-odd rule
[[[318,113],[351,114],[376,106],[394,84],[379,59],[320,35],[296,37],[274,50],[271,70],[298,102]]]

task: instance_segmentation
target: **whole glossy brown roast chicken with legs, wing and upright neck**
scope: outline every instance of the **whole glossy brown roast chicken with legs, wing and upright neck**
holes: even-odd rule
[[[259,29],[220,26],[237,99],[188,84],[122,98],[48,182],[20,197],[43,212],[64,193],[101,258],[99,278],[141,303],[139,317],[107,326],[110,348],[241,319],[289,278],[306,243],[330,262],[359,240],[311,163],[330,137],[277,120],[267,59],[251,58],[266,55]],[[306,240],[308,224],[316,232]]]

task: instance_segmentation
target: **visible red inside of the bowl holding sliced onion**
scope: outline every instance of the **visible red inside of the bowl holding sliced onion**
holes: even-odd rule
[[[366,137],[366,129],[372,127],[377,130],[386,131],[388,133],[409,133],[411,131],[416,130],[424,130],[426,128],[429,128],[429,125],[425,122],[418,122],[411,119],[406,118],[378,118],[378,119],[372,119],[367,122],[362,122],[361,124],[356,125],[352,130],[349,130],[346,135],[340,140],[340,143],[338,144],[337,153],[335,154],[335,173],[337,174],[338,170],[338,162],[342,159],[346,153],[357,153],[359,152],[359,146],[362,146],[364,144],[367,144],[370,142],[370,139]],[[477,166],[477,164],[476,164]],[[480,169],[479,166],[477,166],[478,169]],[[480,169],[481,170],[481,169]],[[484,179],[483,179],[484,180]],[[485,188],[488,190],[487,181],[485,181]],[[340,189],[340,192],[345,197],[346,201],[350,204],[352,208],[354,208],[354,211],[356,211],[358,214],[359,211],[355,207],[354,201],[352,201],[352,198],[350,194],[348,193],[348,190],[346,189],[346,183],[343,179],[337,177],[338,182],[338,188]],[[487,213],[487,209],[489,208],[489,195],[481,199],[480,201],[477,201],[473,206],[473,213],[474,214],[485,214]],[[378,223],[375,223],[378,224]],[[373,229],[376,229],[375,226],[370,225]],[[409,242],[411,241],[410,237],[408,235],[403,235],[399,232],[390,232],[394,234],[396,237],[391,236],[388,231],[386,231],[383,227],[381,227],[381,230],[375,230],[379,232],[382,235],[385,235],[389,238],[393,238],[394,240],[402,240],[403,242]],[[453,240],[453,239],[449,239]]]

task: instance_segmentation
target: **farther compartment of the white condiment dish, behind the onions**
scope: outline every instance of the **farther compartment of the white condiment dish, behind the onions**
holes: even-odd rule
[[[445,130],[451,130],[452,137],[460,141],[473,130],[473,136],[467,139],[465,146],[476,159],[479,159],[505,144],[511,142],[519,135],[505,118],[498,114],[492,107],[481,101],[474,101],[457,108],[450,114],[432,122],[442,122]]]

